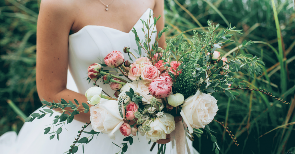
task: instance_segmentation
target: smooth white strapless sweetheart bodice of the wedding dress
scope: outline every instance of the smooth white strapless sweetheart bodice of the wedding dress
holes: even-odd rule
[[[153,14],[152,9],[147,9],[140,19],[147,21],[150,11]],[[145,34],[142,32],[142,22],[140,19],[135,23],[134,28],[140,40],[143,40]],[[150,22],[153,23],[153,17],[151,17]],[[145,32],[147,32],[147,29],[145,29]],[[151,42],[155,42],[155,34],[151,37]],[[68,41],[68,72],[70,73],[68,73],[67,88],[81,94],[85,94],[88,88],[93,87],[94,82],[91,81],[89,83],[87,80],[87,68],[89,65],[93,63],[104,64],[104,57],[113,50],[122,52],[125,60],[130,60],[128,54],[123,52],[124,47],[130,47],[130,51],[135,56],[139,56],[133,50],[137,50],[138,46],[135,41],[135,34],[131,30],[129,33],[126,33],[109,27],[89,25],[83,27],[77,33],[71,34]],[[143,53],[142,51],[142,55]],[[115,71],[109,67],[104,67],[104,70],[113,71],[110,72],[112,74]],[[112,96],[114,94],[115,91],[109,85],[103,85],[100,80],[98,84],[109,95]]]

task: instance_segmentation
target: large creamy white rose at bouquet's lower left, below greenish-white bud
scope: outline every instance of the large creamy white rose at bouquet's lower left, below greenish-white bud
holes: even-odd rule
[[[122,107],[124,115],[124,108]],[[118,101],[108,100],[90,107],[90,121],[92,129],[96,132],[106,133],[115,140],[114,133],[124,123],[119,113]]]

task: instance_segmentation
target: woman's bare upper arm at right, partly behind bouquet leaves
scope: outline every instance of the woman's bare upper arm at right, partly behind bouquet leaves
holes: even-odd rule
[[[159,15],[161,15],[161,18],[157,21],[156,27],[157,27],[157,36],[159,32],[165,27],[164,22],[164,0],[155,0],[155,7],[153,9],[154,17],[158,18]],[[163,48],[166,45],[166,39],[165,34],[162,34],[160,40],[159,40],[159,47]]]

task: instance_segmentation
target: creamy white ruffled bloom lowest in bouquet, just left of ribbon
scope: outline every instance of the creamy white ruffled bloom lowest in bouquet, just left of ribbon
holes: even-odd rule
[[[145,133],[148,141],[156,142],[157,140],[166,139],[166,125],[163,124],[159,119],[150,122],[150,131]]]

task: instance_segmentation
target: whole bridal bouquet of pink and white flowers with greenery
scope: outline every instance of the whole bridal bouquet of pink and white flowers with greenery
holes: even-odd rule
[[[79,138],[84,128],[90,123],[93,130],[86,133],[92,135],[99,132],[107,133],[109,138],[115,140],[114,132],[119,130],[126,136],[124,141],[130,144],[133,142],[132,137],[138,134],[145,135],[151,142],[166,139],[169,134],[174,142],[172,145],[176,145],[174,150],[178,154],[189,150],[186,148],[186,138],[192,139],[193,135],[199,137],[203,133],[199,128],[202,128],[209,133],[215,153],[219,153],[216,138],[211,134],[213,131],[208,126],[218,111],[217,100],[211,95],[212,93],[225,93],[228,97],[235,99],[239,93],[232,90],[254,90],[280,100],[261,88],[249,89],[242,82],[244,79],[233,77],[234,72],[250,74],[253,78],[262,74],[264,63],[257,56],[239,53],[240,49],[246,48],[251,41],[243,42],[237,52],[232,52],[230,58],[216,51],[224,44],[234,42],[231,40],[232,33],[240,33],[241,30],[235,30],[235,27],[231,26],[220,29],[219,24],[215,26],[208,21],[208,32],[198,34],[194,31],[193,39],[188,41],[183,40],[185,37],[183,33],[178,34],[166,41],[167,45],[165,49],[162,49],[158,47],[158,40],[168,27],[158,32],[158,37],[153,44],[150,39],[151,34],[157,32],[153,30],[159,18],[160,16],[155,17],[152,24],[142,21],[144,25],[142,31],[145,32],[145,38],[142,41],[137,36],[136,29],[133,28],[132,32],[138,44],[138,50],[134,49],[134,51],[139,57],[136,57],[128,47],[122,51],[133,56],[136,59],[134,62],[130,62],[132,61],[130,56],[130,61],[125,60],[121,52],[112,51],[104,58],[104,64],[95,63],[88,67],[87,80],[94,81],[94,87],[89,88],[85,96],[87,102],[93,106],[89,108],[86,103],[80,105],[76,100],[76,104],[63,99],[59,103],[44,100],[42,103],[45,104],[44,106],[51,106],[50,109],[44,109],[42,115],[34,113],[26,121],[33,121],[36,117],[40,119],[47,113],[52,115],[51,109],[59,108],[61,110],[57,112],[62,114],[55,117],[54,124],[58,120],[69,123],[74,115],[90,110],[90,122],[79,131],[78,138],[75,138],[68,153],[75,153],[78,150],[76,143],[89,143],[92,140]],[[215,31],[218,29],[219,33],[216,34]],[[122,74],[119,76],[110,74],[106,68],[116,69]],[[96,84],[99,80],[110,85],[114,90],[115,98],[102,94],[103,89]],[[232,84],[237,87],[233,88]],[[280,101],[286,103],[286,101]],[[71,108],[70,115],[65,114],[65,107]],[[177,116],[181,116],[183,120],[175,122],[174,117]],[[227,130],[228,128],[222,122],[218,123],[226,129],[233,142],[239,145],[234,135]],[[49,131],[50,127],[46,128],[45,134]],[[54,135],[50,136],[50,139],[55,135],[58,138],[61,131],[60,127]],[[121,153],[124,153],[127,151],[127,143],[122,144]],[[165,149],[165,145],[160,146],[158,153],[163,148]]]

